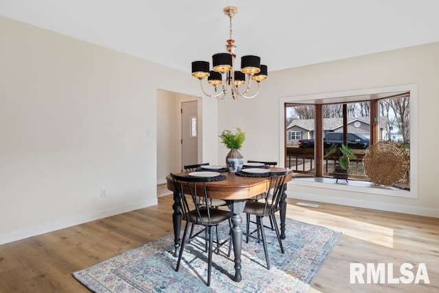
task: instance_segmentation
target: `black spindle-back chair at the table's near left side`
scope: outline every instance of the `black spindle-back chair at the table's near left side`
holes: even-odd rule
[[[180,262],[186,244],[189,244],[189,242],[191,242],[194,237],[202,237],[208,243],[209,257],[206,285],[210,286],[213,243],[217,245],[215,248],[215,252],[218,254],[219,248],[229,242],[228,256],[230,257],[230,233],[227,233],[225,239],[219,240],[218,224],[222,222],[228,222],[229,228],[231,228],[230,217],[232,216],[232,213],[230,213],[230,211],[216,209],[212,206],[211,201],[209,200],[208,191],[206,189],[206,183],[210,182],[212,180],[212,177],[178,176],[176,174],[170,174],[170,176],[173,179],[175,189],[179,194],[182,209],[182,220],[186,221],[185,232],[183,233],[176,271],[178,272],[178,269],[180,268]],[[187,238],[189,224],[191,224],[191,226],[202,226],[202,231],[207,231],[206,236],[203,237],[203,233],[202,231],[200,231],[195,235],[191,235],[191,233],[189,233],[189,238]],[[215,228],[217,231],[217,239],[215,242],[213,241],[213,228]]]

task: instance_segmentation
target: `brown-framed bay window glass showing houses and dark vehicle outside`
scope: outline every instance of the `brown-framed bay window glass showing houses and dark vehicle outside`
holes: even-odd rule
[[[328,150],[340,146],[347,132],[346,143],[355,154],[348,180],[368,181],[362,160],[373,143],[396,141],[410,154],[409,100],[410,93],[387,93],[356,102],[285,104],[285,166],[298,176],[331,177],[340,152]],[[410,189],[409,172],[395,187]]]

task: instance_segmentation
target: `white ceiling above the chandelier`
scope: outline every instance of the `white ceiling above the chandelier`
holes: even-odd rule
[[[190,72],[225,51],[228,5],[238,58],[269,71],[439,41],[438,0],[0,0],[0,15]]]

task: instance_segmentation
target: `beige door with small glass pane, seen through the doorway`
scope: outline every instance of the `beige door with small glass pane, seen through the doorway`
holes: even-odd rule
[[[198,101],[181,103],[182,166],[198,163]],[[182,167],[183,168],[183,167]]]

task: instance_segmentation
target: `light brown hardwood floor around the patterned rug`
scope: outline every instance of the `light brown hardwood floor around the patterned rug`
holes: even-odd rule
[[[439,292],[439,219],[288,199],[287,217],[342,231],[309,292]],[[88,292],[72,272],[171,233],[171,196],[158,205],[0,246],[0,292]],[[429,285],[350,284],[350,263],[425,263]],[[366,281],[366,275],[364,275]]]

